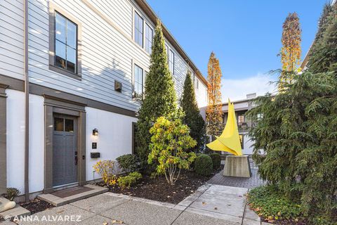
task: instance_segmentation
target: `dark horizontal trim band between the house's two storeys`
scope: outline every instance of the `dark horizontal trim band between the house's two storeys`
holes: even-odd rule
[[[25,91],[24,81],[21,79],[15,79],[13,77],[8,77],[6,75],[0,74],[0,83],[8,85],[8,89],[14,89],[17,91]],[[89,98],[66,93],[64,91],[58,91],[56,89],[51,89],[46,86],[41,86],[38,84],[30,83],[29,93],[36,94],[39,96],[48,96],[48,98],[64,99],[63,101],[67,100],[70,103],[76,103],[77,105],[85,105],[91,108],[97,108],[99,110],[105,110],[111,113],[127,115],[129,117],[136,117],[136,112],[133,110],[126,110],[118,106],[110,105],[107,103],[102,103],[100,101],[95,101]]]

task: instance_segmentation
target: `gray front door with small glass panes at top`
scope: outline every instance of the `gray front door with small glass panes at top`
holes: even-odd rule
[[[77,118],[53,117],[53,186],[77,182]]]

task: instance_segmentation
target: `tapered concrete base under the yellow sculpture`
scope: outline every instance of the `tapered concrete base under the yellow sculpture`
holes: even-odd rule
[[[227,155],[223,176],[251,177],[248,155]]]

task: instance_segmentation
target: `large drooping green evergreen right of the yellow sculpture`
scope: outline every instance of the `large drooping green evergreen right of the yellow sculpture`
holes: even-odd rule
[[[256,98],[256,108],[249,110],[256,124],[250,131],[253,159],[263,179],[301,201],[305,217],[332,217],[337,207],[337,79],[331,72],[294,76],[284,91]]]

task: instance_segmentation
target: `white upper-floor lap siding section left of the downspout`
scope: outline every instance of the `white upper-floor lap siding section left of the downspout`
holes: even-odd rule
[[[0,1],[0,74],[23,79],[23,11],[20,1]]]

